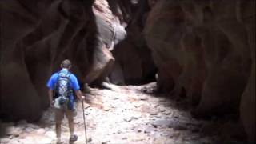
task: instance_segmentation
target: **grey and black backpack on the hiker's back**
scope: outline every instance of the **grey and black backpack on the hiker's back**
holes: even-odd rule
[[[55,85],[55,94],[54,98],[63,97],[69,98],[70,94],[73,93],[70,87],[70,72],[62,73],[61,71],[58,72],[58,78]]]

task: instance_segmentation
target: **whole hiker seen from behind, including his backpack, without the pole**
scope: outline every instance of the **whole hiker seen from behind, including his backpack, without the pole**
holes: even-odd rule
[[[50,106],[54,107],[56,121],[56,136],[57,143],[61,143],[62,134],[62,119],[64,114],[69,122],[70,127],[70,142],[78,140],[78,136],[74,134],[74,116],[76,110],[74,107],[74,93],[81,101],[84,100],[78,79],[74,74],[70,73],[71,62],[66,59],[61,64],[62,70],[53,74],[47,82],[49,88]]]

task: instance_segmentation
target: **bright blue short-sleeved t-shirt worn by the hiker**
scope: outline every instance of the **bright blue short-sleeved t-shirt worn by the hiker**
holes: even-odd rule
[[[62,74],[67,74],[67,73],[69,73],[69,71],[68,71],[67,69],[62,69],[60,72],[61,72]],[[53,75],[50,77],[49,81],[47,82],[47,87],[48,87],[49,89],[51,89],[51,90],[54,90],[54,87],[55,87],[57,81],[58,81],[58,73],[55,73],[55,74],[53,74]],[[70,87],[71,87],[73,90],[80,90],[80,86],[79,86],[79,84],[78,84],[78,78],[76,78],[76,77],[74,76],[74,74],[71,74],[71,73],[70,73]],[[71,94],[71,95],[69,96],[69,99],[70,99],[70,101],[68,102],[68,108],[69,108],[70,110],[73,110],[73,109],[74,109],[74,95]]]

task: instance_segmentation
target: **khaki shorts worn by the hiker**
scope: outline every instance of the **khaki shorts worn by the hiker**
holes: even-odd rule
[[[55,121],[56,122],[62,122],[62,119],[64,118],[64,114],[66,115],[66,118],[69,121],[74,120],[75,116],[75,110],[68,110],[68,109],[56,109],[55,108]]]

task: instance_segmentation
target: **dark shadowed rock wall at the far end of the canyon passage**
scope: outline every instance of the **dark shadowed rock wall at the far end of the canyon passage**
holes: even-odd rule
[[[126,38],[114,46],[116,62],[110,81],[122,85],[154,81],[157,69],[142,33],[150,10],[147,1],[108,2],[114,16],[118,18],[118,23],[126,29]]]

